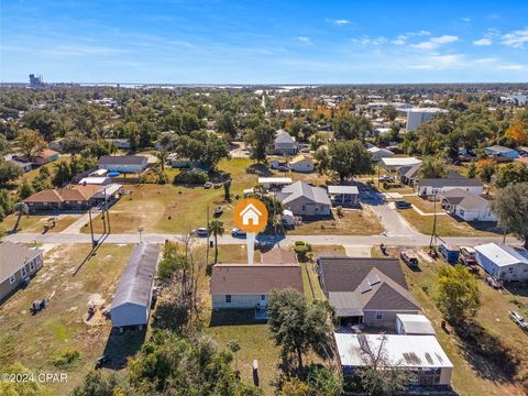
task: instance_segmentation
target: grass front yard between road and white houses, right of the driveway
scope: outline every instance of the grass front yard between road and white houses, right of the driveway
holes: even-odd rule
[[[420,216],[411,208],[397,210],[419,232],[425,234],[432,232],[433,216]],[[469,223],[449,215],[441,215],[437,216],[437,234],[439,237],[499,237],[502,232],[492,222]]]

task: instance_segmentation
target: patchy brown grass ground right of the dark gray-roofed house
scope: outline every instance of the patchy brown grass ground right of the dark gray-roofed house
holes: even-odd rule
[[[389,255],[397,256],[399,250],[389,248]],[[380,256],[380,250],[373,249],[373,255]],[[419,272],[410,271],[403,265],[404,273],[409,285],[409,289],[420,304],[424,314],[431,320],[439,342],[454,365],[452,386],[461,396],[472,395],[524,395],[522,391],[513,385],[512,382],[504,380],[497,374],[497,369],[475,355],[464,345],[464,342],[454,334],[452,330],[448,332],[441,328],[442,315],[436,306],[436,280],[437,272],[443,261],[430,260],[425,251],[418,251],[420,261]],[[426,260],[429,258],[429,260]],[[487,286],[483,280],[479,280],[481,290],[482,307],[476,316],[476,321],[483,326],[490,333],[496,336],[505,346],[510,348],[519,356],[522,356],[522,363],[519,369],[526,371],[528,359],[528,337],[520,330],[508,317],[508,310],[519,310],[512,302],[517,300],[528,305],[528,297],[512,296],[508,293],[499,293]]]

